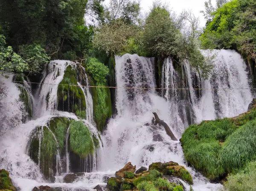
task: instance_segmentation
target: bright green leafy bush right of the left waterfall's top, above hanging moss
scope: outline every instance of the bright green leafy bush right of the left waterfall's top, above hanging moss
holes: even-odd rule
[[[96,82],[105,82],[105,78],[109,73],[108,67],[99,62],[96,58],[89,59],[87,70]]]

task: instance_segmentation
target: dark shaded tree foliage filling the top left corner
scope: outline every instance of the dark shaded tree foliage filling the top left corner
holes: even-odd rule
[[[67,51],[87,51],[93,27],[85,26],[84,14],[102,14],[102,0],[0,0],[0,25],[15,50],[24,44],[40,44],[60,58]],[[90,11],[89,11],[90,10]],[[13,14],[15,12],[15,14]]]

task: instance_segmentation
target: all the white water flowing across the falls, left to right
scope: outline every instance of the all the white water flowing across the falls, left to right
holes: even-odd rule
[[[93,190],[96,185],[106,185],[105,177],[114,176],[115,171],[127,162],[136,165],[138,169],[142,166],[148,167],[152,162],[174,161],[192,174],[192,187],[195,191],[218,190],[221,188],[220,184],[210,183],[186,164],[179,141],[172,141],[163,127],[151,125],[152,112],[156,112],[180,139],[190,124],[237,116],[247,110],[252,95],[246,64],[241,55],[231,50],[206,50],[202,53],[216,55],[214,70],[208,79],[201,78],[198,72],[190,68],[188,61],[184,61],[180,67],[176,66],[171,58],[166,58],[160,79],[162,91],[154,90],[156,79],[153,58],[129,54],[116,56],[116,84],[119,87],[116,89],[115,102],[117,115],[110,119],[106,130],[102,132],[103,147],[100,146],[93,155],[87,157],[84,161],[87,165],[84,167],[83,176],[72,184],[63,183],[64,175],[72,172],[70,153],[67,149],[70,127],[65,134],[64,156],[61,156],[61,153],[56,156],[55,183],[44,181],[40,163],[36,164],[30,159],[26,145],[33,130],[38,126],[47,125],[52,117],[78,119],[73,113],[57,110],[58,85],[51,85],[59,84],[64,78],[67,66],[76,68],[76,63],[51,61],[41,81],[44,84],[38,87],[34,96],[32,95],[34,120],[25,123],[24,106],[19,100],[20,90],[17,84],[12,82],[12,77],[1,78],[1,83],[8,87],[8,95],[0,100],[0,169],[10,171],[13,183],[21,191],[31,191],[40,185],[60,187],[63,191],[82,191]],[[86,85],[89,84],[87,75],[84,81]],[[78,85],[86,98],[87,115],[84,124],[91,133],[98,135],[93,120],[93,98],[90,89],[83,87],[81,83]],[[43,132],[37,136],[41,144]],[[189,185],[183,181],[182,183],[186,190],[189,190]]]

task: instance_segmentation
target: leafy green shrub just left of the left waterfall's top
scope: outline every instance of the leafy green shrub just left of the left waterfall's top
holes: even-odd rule
[[[39,44],[22,45],[18,53],[29,64],[29,72],[33,74],[40,72],[50,59]]]

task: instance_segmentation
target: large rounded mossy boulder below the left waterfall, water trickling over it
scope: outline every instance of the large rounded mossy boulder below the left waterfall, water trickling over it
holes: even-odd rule
[[[30,135],[27,144],[28,155],[40,166],[44,178],[50,182],[55,180],[56,165],[58,165],[59,173],[65,171],[66,165],[63,165],[60,160],[57,164],[56,156],[59,154],[60,158],[65,157],[66,140],[68,141],[67,149],[70,152],[71,168],[74,166],[72,163],[78,163],[77,160],[74,162],[71,156],[77,156],[76,158],[84,161],[99,148],[98,136],[91,133],[83,121],[65,117],[51,118],[46,126],[35,127]]]

